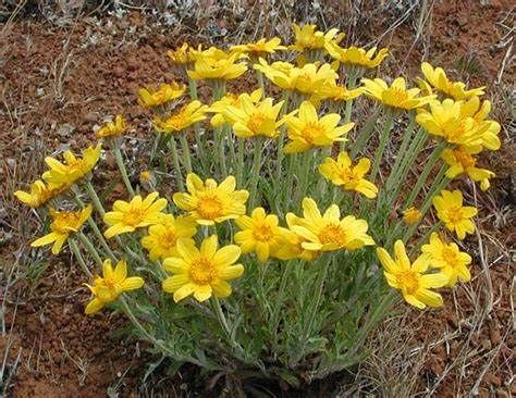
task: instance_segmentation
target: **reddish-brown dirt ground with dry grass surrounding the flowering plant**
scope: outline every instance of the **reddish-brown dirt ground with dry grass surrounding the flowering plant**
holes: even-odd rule
[[[363,383],[364,388],[355,391],[372,388],[373,394],[397,391],[398,396],[509,397],[516,394],[512,298],[516,148],[509,111],[511,103],[514,107],[514,3],[429,3],[432,8],[425,14],[428,18],[422,21],[420,36],[417,16],[398,26],[394,26],[397,20],[379,20],[361,30],[356,26],[344,26],[344,30],[348,27],[353,32],[349,38],[361,43],[378,38],[378,32],[385,33],[381,45],[392,50],[386,67],[393,73],[402,70],[416,74],[425,57],[471,84],[488,84],[494,117],[504,125],[504,145],[500,152],[482,159],[496,173],[493,188],[474,195],[468,187],[468,199],[478,201],[481,214],[481,245],[476,237],[466,242],[475,259],[472,283],[445,297],[447,304],[442,311],[414,311],[396,320],[407,329],[400,337],[406,339],[400,343],[405,351],[394,358],[373,352],[377,366],[369,363],[358,371],[355,382]],[[331,8],[334,15],[329,14],[329,21],[340,15],[335,8]],[[63,21],[27,12],[0,26],[0,353],[7,356],[1,365],[0,395],[2,390],[14,397],[208,394],[207,384],[196,377],[192,366],[176,374],[168,374],[164,365],[157,366],[146,378],[152,358],[145,353],[145,347],[121,341],[123,337],[112,333],[124,320],[109,313],[95,318],[83,314],[88,294],[71,266],[70,254],[48,262],[42,251],[29,250],[27,236],[38,223],[11,192],[41,171],[46,154],[69,144],[79,148],[93,141],[93,126],[101,124],[106,115],[123,113],[136,135],[145,137],[147,117],[137,105],[135,90],[177,77],[167,61],[167,50],[185,39],[208,41],[207,36],[197,37],[197,30],[230,32],[214,41],[231,41],[238,26],[218,15],[199,18],[185,28],[171,27],[149,12],[132,9],[124,15],[83,13]],[[382,338],[382,331],[379,333],[378,338]],[[405,358],[406,363],[400,364],[398,358]],[[407,372],[410,382],[395,386],[402,383],[401,370]],[[377,380],[372,384],[364,382],[372,378]],[[320,391],[353,394],[348,375],[328,383]],[[378,387],[380,383],[392,385]],[[320,391],[319,396],[324,396]]]

